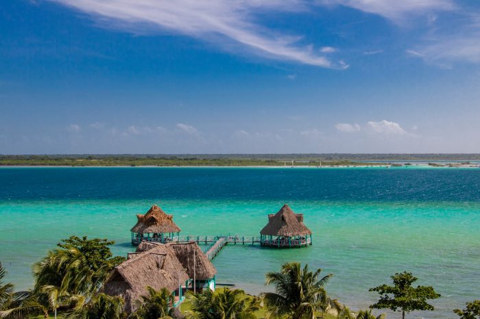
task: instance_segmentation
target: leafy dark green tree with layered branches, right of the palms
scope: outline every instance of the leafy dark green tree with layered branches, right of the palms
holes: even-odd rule
[[[414,277],[411,272],[396,273],[392,277],[394,283],[390,285],[379,285],[378,287],[371,288],[370,292],[378,292],[381,298],[377,303],[371,305],[373,309],[391,309],[397,311],[401,309],[402,318],[405,319],[405,313],[409,313],[415,310],[430,310],[434,308],[427,303],[429,299],[436,299],[440,297],[433,287],[418,285],[416,288],[412,287],[412,283],[417,281],[417,277]]]

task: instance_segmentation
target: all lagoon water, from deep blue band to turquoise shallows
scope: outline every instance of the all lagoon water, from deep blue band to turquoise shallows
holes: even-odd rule
[[[135,214],[153,203],[185,235],[258,235],[289,203],[313,246],[228,246],[214,259],[219,282],[258,293],[265,272],[300,261],[333,273],[328,291],[358,309],[376,300],[368,288],[408,270],[442,294],[411,318],[455,318],[480,298],[479,189],[480,170],[458,168],[0,168],[0,261],[26,289],[32,264],[69,235],[131,251]]]

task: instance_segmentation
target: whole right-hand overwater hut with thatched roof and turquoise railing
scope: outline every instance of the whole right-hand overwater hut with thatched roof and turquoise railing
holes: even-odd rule
[[[312,244],[311,230],[303,223],[303,214],[295,214],[285,204],[276,214],[268,215],[268,224],[260,231],[262,246],[300,247]]]

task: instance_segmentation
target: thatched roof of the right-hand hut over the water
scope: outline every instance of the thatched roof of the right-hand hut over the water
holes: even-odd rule
[[[260,231],[262,235],[298,236],[310,235],[312,232],[303,224],[303,214],[295,214],[285,204],[276,214],[268,215],[268,224]]]

